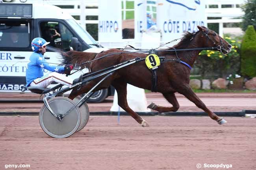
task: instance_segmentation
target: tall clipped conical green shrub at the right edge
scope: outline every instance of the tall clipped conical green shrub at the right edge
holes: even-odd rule
[[[256,77],[256,33],[253,26],[248,26],[241,44],[241,74]]]

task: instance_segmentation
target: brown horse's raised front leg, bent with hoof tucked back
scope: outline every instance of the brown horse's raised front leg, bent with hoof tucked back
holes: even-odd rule
[[[148,105],[148,108],[150,108],[152,110],[156,110],[160,113],[162,113],[162,112],[176,112],[180,108],[180,105],[179,105],[174,93],[165,93],[165,94],[163,94],[163,96],[165,97],[165,99],[168,102],[170,102],[173,105],[173,107],[162,107],[162,106],[157,106],[154,103],[151,103],[150,105]]]

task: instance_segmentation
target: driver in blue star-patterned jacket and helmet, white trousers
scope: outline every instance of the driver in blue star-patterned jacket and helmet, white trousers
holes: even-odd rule
[[[64,74],[70,74],[73,69],[73,65],[68,66],[50,66],[49,63],[45,61],[44,54],[46,52],[46,45],[50,42],[46,42],[45,39],[37,37],[31,42],[33,53],[30,56],[30,62],[28,63],[26,69],[26,87],[36,86],[41,88],[47,88],[53,81],[71,86],[82,81],[82,75],[78,79],[70,79]],[[43,75],[44,69],[53,71],[47,75]]]

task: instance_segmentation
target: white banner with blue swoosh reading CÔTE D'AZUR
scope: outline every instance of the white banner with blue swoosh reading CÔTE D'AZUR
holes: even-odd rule
[[[157,0],[157,26],[162,42],[182,37],[184,31],[207,26],[204,0]]]

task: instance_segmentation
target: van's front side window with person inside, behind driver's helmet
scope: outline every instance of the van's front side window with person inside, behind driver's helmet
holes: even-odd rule
[[[62,49],[64,51],[70,50],[70,41],[74,35],[69,29],[60,22],[41,22],[41,35],[49,46]]]

